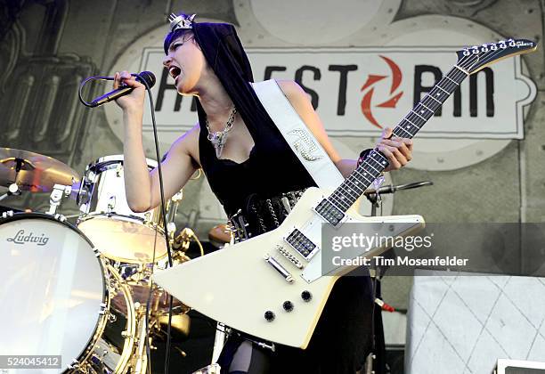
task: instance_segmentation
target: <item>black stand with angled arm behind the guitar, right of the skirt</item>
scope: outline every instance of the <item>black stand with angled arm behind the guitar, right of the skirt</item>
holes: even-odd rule
[[[415,182],[415,183],[405,183],[405,184],[389,184],[386,186],[379,187],[378,189],[372,189],[372,190],[366,190],[363,192],[365,197],[369,200],[371,204],[371,215],[370,216],[377,216],[377,208],[380,207],[380,204],[382,203],[382,199],[380,199],[380,195],[386,194],[386,193],[395,193],[396,191],[402,191],[402,190],[411,190],[414,188],[424,187],[433,185],[434,183],[431,181],[421,181],[421,182]],[[374,374],[376,371],[373,369],[374,366],[374,360],[377,358],[377,336],[375,333],[375,312],[380,313],[382,311],[382,306],[379,304],[381,303],[381,292],[380,292],[380,279],[382,278],[382,268],[377,265],[376,260],[372,261],[372,264],[370,265],[370,277],[372,279],[372,305],[373,308],[371,310],[371,351],[370,354],[367,355],[365,359],[365,374]],[[384,269],[384,272],[386,272],[386,269]],[[380,323],[382,323],[382,318],[380,319]],[[377,369],[378,372],[381,373],[383,367],[386,365],[384,354],[386,353],[386,346],[384,342],[384,337],[382,337],[382,344],[379,347],[381,352],[381,357],[378,360],[378,364],[380,365]]]

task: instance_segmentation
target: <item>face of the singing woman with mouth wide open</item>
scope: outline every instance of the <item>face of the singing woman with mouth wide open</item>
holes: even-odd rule
[[[191,32],[172,41],[163,65],[175,79],[178,93],[199,93],[199,82],[206,70],[206,60]]]

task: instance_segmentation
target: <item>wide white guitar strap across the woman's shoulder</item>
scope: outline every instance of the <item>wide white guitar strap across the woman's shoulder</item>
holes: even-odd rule
[[[264,109],[318,187],[337,188],[345,178],[291,106],[276,80],[252,83],[252,86]]]

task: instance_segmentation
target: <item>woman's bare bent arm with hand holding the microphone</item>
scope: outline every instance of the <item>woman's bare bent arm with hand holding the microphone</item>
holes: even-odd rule
[[[123,109],[125,124],[123,153],[126,200],[134,212],[145,212],[160,204],[159,171],[151,172],[146,163],[142,145],[142,114],[145,89],[126,71],[116,74],[114,88],[119,82],[134,87],[132,93],[117,100]],[[165,198],[169,199],[182,189],[198,168],[199,126],[194,126],[174,142],[167,158],[161,163]]]

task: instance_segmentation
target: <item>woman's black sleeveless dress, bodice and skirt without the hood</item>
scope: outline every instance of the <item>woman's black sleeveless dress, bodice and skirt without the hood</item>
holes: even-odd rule
[[[200,105],[198,107],[199,123],[205,124],[206,114]],[[229,216],[239,209],[245,212],[249,199],[256,202],[283,192],[315,186],[276,126],[248,121],[246,126],[255,146],[249,159],[240,164],[229,159],[217,159],[214,147],[207,140],[206,126],[200,126],[201,166],[212,191]],[[279,218],[283,220],[285,215]],[[371,347],[371,311],[375,305],[371,291],[371,281],[367,276],[345,276],[338,280],[309,346],[301,350],[276,345],[275,353],[266,352],[271,358],[268,372],[354,374],[360,370]],[[375,321],[376,332],[380,332],[379,309],[375,313]],[[226,346],[231,345],[233,351],[236,344],[228,341]],[[220,364],[229,363],[225,354],[222,360]],[[225,369],[223,366],[222,373],[227,372]]]

